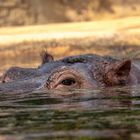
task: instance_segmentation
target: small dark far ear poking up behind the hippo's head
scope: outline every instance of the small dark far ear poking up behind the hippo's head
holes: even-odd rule
[[[53,56],[50,55],[46,50],[41,52],[41,59],[42,59],[42,65],[48,62],[52,62],[54,60]]]

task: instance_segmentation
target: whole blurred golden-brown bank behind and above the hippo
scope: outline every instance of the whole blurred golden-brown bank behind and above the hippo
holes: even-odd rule
[[[0,72],[96,53],[140,57],[140,0],[0,0]]]

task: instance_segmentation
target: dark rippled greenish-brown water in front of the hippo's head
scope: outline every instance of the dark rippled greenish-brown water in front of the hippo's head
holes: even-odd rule
[[[140,86],[0,94],[0,140],[140,139]]]

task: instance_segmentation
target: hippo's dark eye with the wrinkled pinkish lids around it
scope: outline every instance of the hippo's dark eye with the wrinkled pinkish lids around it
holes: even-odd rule
[[[79,76],[77,71],[73,69],[62,69],[61,71],[54,71],[52,75],[48,78],[46,87],[48,89],[57,90],[72,90],[79,89],[82,86],[83,79]]]

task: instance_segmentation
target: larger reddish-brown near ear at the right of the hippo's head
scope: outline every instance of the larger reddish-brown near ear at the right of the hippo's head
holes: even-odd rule
[[[125,85],[131,70],[131,60],[123,60],[106,67],[105,82],[108,85]]]

